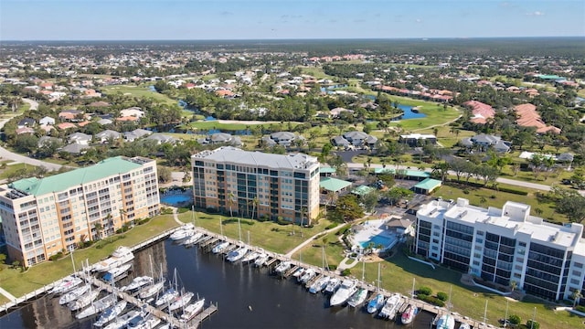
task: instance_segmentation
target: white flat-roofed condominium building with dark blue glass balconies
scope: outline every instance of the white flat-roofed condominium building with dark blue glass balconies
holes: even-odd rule
[[[482,208],[435,200],[417,211],[416,253],[548,300],[585,294],[585,239],[577,223],[555,225],[508,201]]]

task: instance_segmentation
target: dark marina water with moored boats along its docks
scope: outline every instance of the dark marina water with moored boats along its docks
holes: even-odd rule
[[[413,324],[402,325],[375,319],[362,309],[331,308],[328,296],[310,294],[293,280],[271,276],[265,268],[232,264],[168,239],[137,252],[131,275],[150,275],[150,259],[154,271],[162,266],[172,277],[177,269],[179,284],[187,291],[218,302],[218,313],[202,328],[429,328],[431,323],[430,313],[420,313]],[[121,284],[131,278],[124,280]],[[47,296],[0,318],[0,328],[91,328],[93,322],[95,317],[75,320],[58,298]]]

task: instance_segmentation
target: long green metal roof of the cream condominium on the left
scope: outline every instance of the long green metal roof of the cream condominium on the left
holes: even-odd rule
[[[61,192],[71,186],[80,186],[111,175],[127,173],[140,168],[141,164],[125,160],[122,156],[105,159],[86,168],[75,169],[67,173],[38,179],[36,177],[17,180],[11,186],[33,196],[42,196],[51,192]]]

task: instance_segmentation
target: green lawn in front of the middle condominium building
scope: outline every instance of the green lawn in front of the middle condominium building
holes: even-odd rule
[[[237,218],[230,219],[229,217],[211,215],[198,211],[196,214],[196,226],[220,233],[219,220],[221,218],[224,235],[229,238],[239,239]],[[191,222],[193,220],[193,213],[187,211],[186,213],[180,214],[179,219],[184,222]],[[260,222],[251,219],[242,219],[240,223],[242,240],[248,241],[248,232],[250,231],[250,244],[282,254],[298,246],[305,239],[323,231],[327,225],[331,224],[326,219],[321,219],[313,228],[301,228],[298,225],[279,225],[271,221]],[[250,223],[252,224],[250,225]],[[303,229],[303,237],[301,237],[301,229]]]

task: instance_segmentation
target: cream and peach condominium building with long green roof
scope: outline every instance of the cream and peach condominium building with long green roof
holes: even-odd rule
[[[113,157],[89,167],[0,186],[8,255],[30,266],[80,241],[159,213],[156,162]]]

